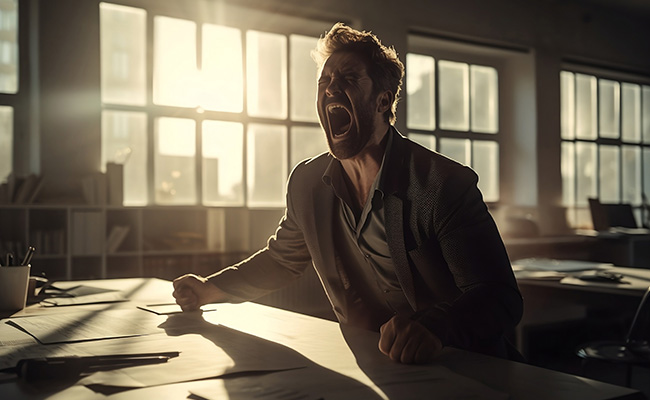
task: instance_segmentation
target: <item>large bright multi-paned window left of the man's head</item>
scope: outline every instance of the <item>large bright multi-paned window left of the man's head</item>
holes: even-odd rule
[[[329,24],[222,17],[100,3],[102,165],[124,164],[125,205],[282,207],[293,165],[326,150],[310,51]]]

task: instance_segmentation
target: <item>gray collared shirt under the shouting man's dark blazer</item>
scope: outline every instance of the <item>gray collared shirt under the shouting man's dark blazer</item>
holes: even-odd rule
[[[358,215],[350,206],[352,197],[340,162],[333,160],[323,175],[323,182],[338,199],[332,232],[337,269],[346,290],[345,322],[372,330],[378,330],[395,314],[413,313],[395,275],[386,242],[382,172],[391,142],[389,135],[379,172]]]

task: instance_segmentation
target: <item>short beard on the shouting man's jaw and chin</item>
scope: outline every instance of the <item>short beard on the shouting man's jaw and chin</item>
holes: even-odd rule
[[[330,154],[339,160],[352,158],[359,154],[366,147],[368,141],[375,131],[375,120],[373,119],[372,107],[370,105],[361,107],[356,112],[355,126],[342,140],[334,140],[334,135],[326,131],[327,145]]]

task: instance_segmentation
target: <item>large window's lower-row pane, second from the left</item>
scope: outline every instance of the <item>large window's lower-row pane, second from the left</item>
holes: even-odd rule
[[[157,204],[196,204],[196,123],[155,120],[154,191]]]

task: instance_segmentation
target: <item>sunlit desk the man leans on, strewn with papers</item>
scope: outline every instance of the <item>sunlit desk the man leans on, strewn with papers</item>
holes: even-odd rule
[[[128,295],[129,301],[72,307],[75,310],[128,310],[142,303],[171,300],[170,282],[158,279],[102,280],[86,283],[121,289]],[[222,379],[143,387],[108,395],[97,393],[79,382],[71,382],[62,387],[39,387],[25,386],[15,380],[4,379],[0,380],[0,393],[3,399],[47,397],[66,400],[184,399],[190,392],[199,395],[208,393],[214,398],[235,399],[248,399],[254,394],[259,396],[260,393],[262,396],[255,398],[420,399],[435,393],[440,398],[453,399],[467,396],[473,391],[473,398],[482,399],[643,398],[633,389],[453,348],[445,348],[431,365],[401,365],[390,361],[377,350],[378,334],[374,332],[341,328],[331,321],[255,303],[220,304],[217,309],[203,315],[181,314],[163,317],[163,322],[158,325],[161,327],[160,333],[109,341],[115,348],[119,348],[123,343],[124,347],[128,344],[138,349],[138,341],[142,341],[144,345],[157,340],[161,344],[161,351],[165,351],[168,349],[163,348],[162,344],[174,346],[180,345],[181,341],[190,340],[193,341],[193,348],[189,349],[189,353],[194,351],[205,354],[202,362],[210,364],[214,360],[209,355],[220,345],[218,335],[210,335],[227,330],[230,334],[240,335],[242,340],[248,340],[249,351],[268,355],[268,348],[273,347],[273,351],[284,352],[278,360],[290,355],[304,365],[301,368],[273,373],[231,373]],[[14,317],[69,310],[69,307],[43,308],[33,305]],[[162,329],[177,318],[181,318],[181,323],[175,324],[174,329]],[[206,340],[207,338],[211,340]],[[100,342],[106,341],[68,344],[67,351],[82,349],[87,352],[93,346],[105,346]],[[18,351],[21,346],[24,347],[25,344],[16,344],[11,349]],[[7,346],[0,349],[7,354]],[[181,353],[178,363],[185,356],[185,353]],[[236,367],[239,355],[229,356],[235,361],[233,365]],[[170,365],[172,362],[175,360],[170,361]],[[162,366],[146,368],[155,371],[155,368]]]

